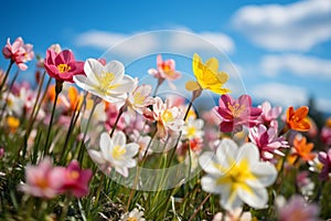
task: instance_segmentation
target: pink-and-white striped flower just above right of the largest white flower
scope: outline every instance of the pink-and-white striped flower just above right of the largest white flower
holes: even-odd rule
[[[285,156],[278,149],[280,147],[289,147],[284,137],[277,136],[277,129],[274,127],[266,128],[265,125],[258,125],[249,129],[249,139],[259,150],[259,156],[263,160],[270,160],[274,154]]]

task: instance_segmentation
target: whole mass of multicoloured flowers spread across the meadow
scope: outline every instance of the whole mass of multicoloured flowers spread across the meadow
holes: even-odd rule
[[[21,38],[13,44],[8,41],[2,52],[6,59],[17,63],[21,70],[25,70],[25,62],[33,57],[32,45],[24,44]],[[100,131],[95,130],[99,138],[98,148],[88,148],[88,154],[104,172],[109,175],[114,169],[128,177],[130,168],[153,154],[151,146],[153,140],[159,139],[166,150],[174,148],[179,161],[189,156],[192,170],[199,165],[204,170],[202,189],[220,194],[220,204],[226,210],[226,214],[216,214],[214,220],[224,217],[235,220],[247,215],[250,219],[249,212],[243,212],[243,203],[255,209],[266,208],[266,188],[275,183],[286,167],[303,161],[311,166],[312,171],[319,172],[320,180],[325,181],[331,177],[331,149],[312,152],[313,145],[307,143],[302,134],[316,129],[312,119],[308,118],[308,107],[289,107],[282,116],[282,108],[271,107],[268,102],[253,107],[249,95],[242,95],[237,99],[232,97],[231,91],[223,87],[228,75],[218,71],[218,61],[214,57],[203,63],[197,54],[193,55],[192,67],[196,81],[185,84],[185,88],[192,92],[189,105],[181,97],[169,96],[162,99],[151,95],[151,85],[139,85],[137,78],[125,74],[125,66],[118,61],[107,63],[105,60],[88,59],[81,62],[75,60],[72,51],[62,51],[58,45],[53,45],[46,51],[40,66],[56,81],[55,85],[49,87],[47,98],[54,103],[54,108],[56,105],[63,108],[60,124],[70,127],[71,116],[75,116],[85,105],[85,116],[94,118],[88,123],[94,128],[102,125]],[[3,82],[8,73],[1,77]],[[158,78],[153,94],[157,94],[157,88],[164,81],[171,82],[181,76],[175,70],[175,62],[163,61],[161,55],[157,57],[157,69],[150,69],[148,73]],[[73,83],[93,95],[92,98],[84,96],[75,86],[67,86]],[[191,107],[205,90],[221,97],[216,107],[199,118]],[[14,134],[20,124],[19,118],[30,113],[36,119],[44,119],[45,125],[49,124],[49,148],[54,112],[51,115],[43,110],[34,113],[38,93],[26,85],[17,84],[2,97],[6,101],[1,98],[1,104],[6,102],[7,109],[2,109],[1,117],[7,116],[6,124],[10,133]],[[88,105],[88,101],[92,105]],[[100,103],[104,105],[97,108]],[[33,133],[29,133],[33,137]],[[331,120],[328,120],[321,135],[322,141],[327,146],[331,145]],[[86,137],[86,133],[82,136],[83,140],[93,139],[90,134],[89,137]],[[210,149],[204,148],[206,146]],[[49,152],[50,149],[46,149],[44,155]],[[83,197],[88,193],[90,178],[92,171],[81,169],[76,160],[67,168],[53,167],[51,159],[44,157],[36,167],[25,168],[25,183],[20,189],[35,197],[53,198],[63,192]],[[309,196],[307,189],[311,181],[307,171],[298,175],[298,181],[302,194]],[[284,217],[282,220],[286,220],[293,211],[306,215],[305,219],[318,215],[314,204],[307,206],[307,210],[298,208],[305,204],[307,201],[297,196],[286,207],[279,202],[279,219]],[[138,210],[126,214],[127,219],[134,213],[143,220]]]

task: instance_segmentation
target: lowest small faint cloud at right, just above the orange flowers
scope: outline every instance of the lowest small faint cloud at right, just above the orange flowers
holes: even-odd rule
[[[308,93],[299,86],[280,83],[266,83],[252,90],[252,97],[259,101],[269,101],[274,105],[300,106],[308,104]]]

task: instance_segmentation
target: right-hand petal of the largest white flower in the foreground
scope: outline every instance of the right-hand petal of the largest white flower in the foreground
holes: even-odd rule
[[[277,170],[269,162],[255,162],[252,165],[250,170],[265,187],[273,185],[277,178]]]

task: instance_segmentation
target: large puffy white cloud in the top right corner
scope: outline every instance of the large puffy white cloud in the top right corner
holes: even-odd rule
[[[233,23],[257,45],[276,51],[308,51],[331,39],[331,1],[246,6]]]

